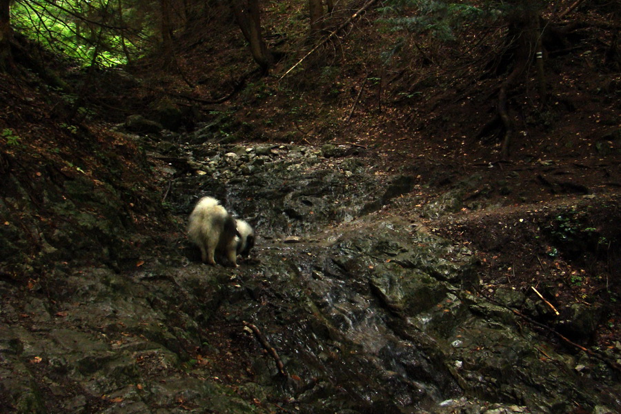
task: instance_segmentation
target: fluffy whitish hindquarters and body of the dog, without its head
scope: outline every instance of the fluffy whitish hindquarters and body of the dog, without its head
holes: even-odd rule
[[[201,249],[204,263],[215,266],[215,255],[237,267],[237,248],[242,242],[238,237],[235,219],[212,197],[203,197],[196,204],[190,222],[190,240]]]

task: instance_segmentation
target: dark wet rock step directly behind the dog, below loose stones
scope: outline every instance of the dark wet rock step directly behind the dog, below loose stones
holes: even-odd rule
[[[285,153],[263,157],[242,162],[228,184],[235,194],[233,210],[252,218],[270,237],[302,235],[321,230],[326,222],[351,221],[363,214],[360,197],[375,198],[378,191],[379,183],[362,168],[346,178],[334,168],[314,168],[314,155],[302,161]],[[270,214],[262,213],[267,211]]]

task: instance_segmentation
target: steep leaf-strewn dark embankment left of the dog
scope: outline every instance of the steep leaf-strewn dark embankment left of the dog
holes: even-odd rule
[[[76,263],[133,264],[149,231],[170,226],[140,142],[71,119],[70,97],[37,77],[1,83],[2,278],[48,286]]]

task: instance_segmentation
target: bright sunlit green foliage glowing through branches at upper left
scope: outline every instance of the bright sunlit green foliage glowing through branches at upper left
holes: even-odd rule
[[[137,0],[18,0],[12,26],[81,66],[116,66],[144,53],[151,32]],[[143,6],[144,7],[144,6]]]

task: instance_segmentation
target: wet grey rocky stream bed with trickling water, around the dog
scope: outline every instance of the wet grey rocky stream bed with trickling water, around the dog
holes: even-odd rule
[[[179,233],[138,266],[59,266],[53,290],[0,278],[0,412],[621,412],[620,350],[552,344],[523,317],[544,303],[481,295],[475,251],[413,219],[458,193],[395,215],[415,177],[356,148],[207,134],[149,149]],[[255,226],[239,268],[188,243],[202,195]]]

